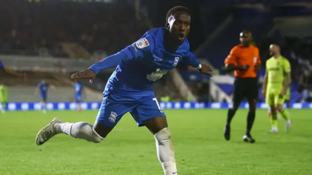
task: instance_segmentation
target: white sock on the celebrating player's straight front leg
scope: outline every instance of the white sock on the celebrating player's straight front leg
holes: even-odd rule
[[[154,137],[156,139],[157,156],[165,175],[177,175],[175,153],[169,129],[160,130]]]

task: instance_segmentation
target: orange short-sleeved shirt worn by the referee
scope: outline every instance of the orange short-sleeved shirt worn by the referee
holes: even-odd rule
[[[238,78],[255,78],[257,76],[255,65],[261,64],[259,49],[254,45],[243,47],[242,44],[239,44],[233,47],[224,64],[249,65],[250,67],[246,71],[235,70],[234,76]]]

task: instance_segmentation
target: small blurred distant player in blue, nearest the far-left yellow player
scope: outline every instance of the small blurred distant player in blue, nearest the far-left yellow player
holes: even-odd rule
[[[48,98],[48,90],[49,88],[55,89],[55,86],[50,85],[45,80],[42,80],[38,83],[37,88],[35,90],[34,96],[37,96],[39,94],[40,97],[40,104],[41,104],[41,110],[45,114],[46,111],[46,102]]]

